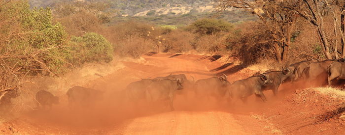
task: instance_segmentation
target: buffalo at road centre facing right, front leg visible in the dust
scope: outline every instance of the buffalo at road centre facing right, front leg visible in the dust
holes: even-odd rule
[[[171,110],[173,108],[173,99],[175,96],[176,90],[183,89],[181,81],[179,79],[176,80],[161,80],[161,81],[153,81],[147,88],[146,88],[146,99],[149,103],[157,103],[163,102],[165,100],[169,100],[169,105]]]

